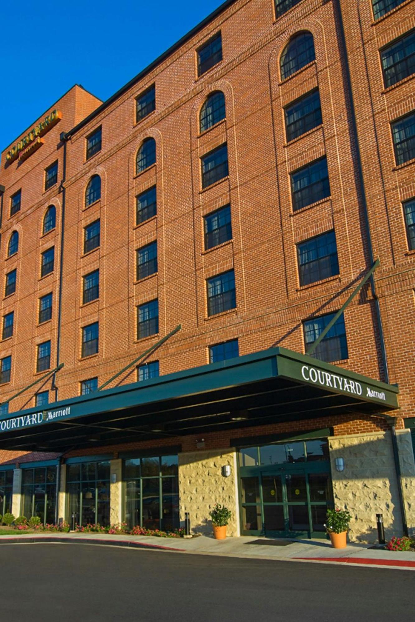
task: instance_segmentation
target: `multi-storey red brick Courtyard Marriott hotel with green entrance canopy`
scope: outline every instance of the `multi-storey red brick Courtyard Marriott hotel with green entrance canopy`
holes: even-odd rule
[[[4,149],[0,513],[414,526],[414,27],[413,0],[227,1]]]

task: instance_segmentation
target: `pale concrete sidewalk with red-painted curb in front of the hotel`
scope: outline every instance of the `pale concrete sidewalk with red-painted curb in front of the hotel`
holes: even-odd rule
[[[19,534],[0,536],[1,544],[22,544],[24,542],[59,542],[67,544],[115,545],[130,548],[171,550],[181,553],[203,555],[225,555],[250,559],[274,559],[279,561],[320,562],[331,564],[370,565],[395,569],[415,570],[415,551],[399,552],[370,549],[365,544],[349,544],[346,549],[332,549],[325,540],[280,540],[254,536],[229,537],[215,540],[209,536],[191,539],[160,538],[153,536],[123,536],[110,534],[85,534],[73,532]],[[286,545],[273,544],[279,542]]]

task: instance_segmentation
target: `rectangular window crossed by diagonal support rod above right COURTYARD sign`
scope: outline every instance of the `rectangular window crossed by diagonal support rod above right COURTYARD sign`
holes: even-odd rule
[[[335,313],[327,313],[327,315],[315,317],[312,320],[303,322],[306,352],[334,316]],[[320,341],[311,356],[320,359],[320,361],[326,361],[326,363],[348,358],[345,318],[343,313],[332,328],[330,328],[325,338]]]

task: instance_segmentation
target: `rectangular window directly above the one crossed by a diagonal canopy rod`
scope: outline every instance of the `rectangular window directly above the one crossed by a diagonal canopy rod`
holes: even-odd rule
[[[335,232],[328,231],[297,244],[297,256],[300,285],[338,274]]]

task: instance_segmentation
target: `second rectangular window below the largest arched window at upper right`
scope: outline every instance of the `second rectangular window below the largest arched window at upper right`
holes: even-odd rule
[[[327,159],[322,157],[290,174],[293,211],[330,197]]]

